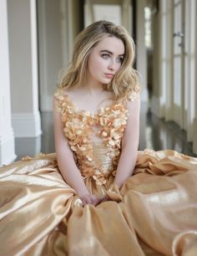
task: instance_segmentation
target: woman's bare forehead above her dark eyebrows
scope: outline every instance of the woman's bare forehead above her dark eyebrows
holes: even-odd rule
[[[108,37],[102,39],[98,44],[94,47],[94,50],[108,50],[113,54],[124,54],[124,43],[121,39],[115,37]]]

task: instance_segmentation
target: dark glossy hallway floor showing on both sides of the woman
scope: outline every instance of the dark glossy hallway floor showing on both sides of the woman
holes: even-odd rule
[[[40,152],[55,151],[53,140],[53,113],[41,113],[42,136],[37,138],[16,138],[15,148],[17,160],[23,156],[36,156]],[[186,132],[179,129],[174,122],[165,122],[152,114],[147,105],[141,105],[139,151],[145,148],[155,151],[173,149],[189,156],[196,156],[192,144],[186,141]]]

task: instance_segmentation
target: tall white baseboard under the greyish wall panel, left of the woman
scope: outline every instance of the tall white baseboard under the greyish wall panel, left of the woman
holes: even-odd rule
[[[39,112],[13,114],[12,125],[17,138],[37,137],[42,134]]]

